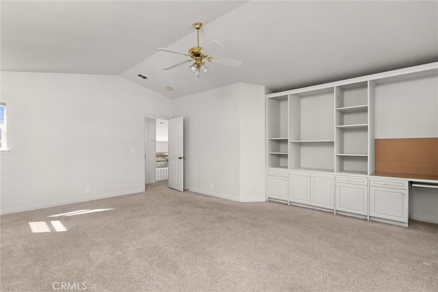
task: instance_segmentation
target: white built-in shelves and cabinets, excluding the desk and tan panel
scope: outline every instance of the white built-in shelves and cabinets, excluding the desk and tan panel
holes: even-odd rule
[[[434,63],[268,94],[267,197],[369,220],[378,216],[368,205],[374,139],[435,137],[437,81]]]

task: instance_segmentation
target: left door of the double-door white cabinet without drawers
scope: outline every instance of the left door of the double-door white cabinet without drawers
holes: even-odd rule
[[[310,174],[289,172],[289,201],[310,204]]]

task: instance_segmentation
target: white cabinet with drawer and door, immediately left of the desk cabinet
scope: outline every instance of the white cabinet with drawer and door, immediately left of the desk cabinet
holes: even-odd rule
[[[336,210],[368,215],[367,177],[336,176]]]

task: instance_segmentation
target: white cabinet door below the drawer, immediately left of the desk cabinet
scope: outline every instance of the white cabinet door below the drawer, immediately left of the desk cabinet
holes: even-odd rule
[[[368,187],[366,185],[336,185],[336,210],[367,215]]]

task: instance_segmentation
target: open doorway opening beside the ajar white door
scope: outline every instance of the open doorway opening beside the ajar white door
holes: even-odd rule
[[[168,179],[168,120],[144,119],[144,182]]]

